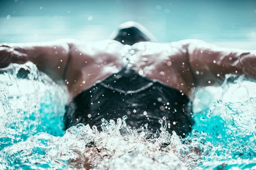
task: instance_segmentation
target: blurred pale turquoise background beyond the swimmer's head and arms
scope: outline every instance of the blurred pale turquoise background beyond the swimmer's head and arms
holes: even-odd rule
[[[0,0],[0,43],[102,40],[126,21],[159,42],[256,49],[256,0]]]

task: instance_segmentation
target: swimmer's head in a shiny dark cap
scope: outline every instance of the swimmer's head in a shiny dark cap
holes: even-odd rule
[[[156,38],[144,26],[131,21],[122,23],[111,34],[110,39],[119,41],[124,45],[133,45],[136,42],[145,41],[156,42]]]

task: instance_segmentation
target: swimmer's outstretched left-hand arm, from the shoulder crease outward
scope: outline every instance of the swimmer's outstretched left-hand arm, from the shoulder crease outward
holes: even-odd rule
[[[39,71],[54,80],[61,80],[72,45],[72,40],[0,44],[0,68],[5,68],[10,63],[23,64],[31,61]]]

